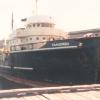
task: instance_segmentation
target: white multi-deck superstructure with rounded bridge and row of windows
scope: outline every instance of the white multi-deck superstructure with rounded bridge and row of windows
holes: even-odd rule
[[[55,28],[52,17],[35,15],[25,20],[25,28],[18,28],[10,35],[9,47],[11,51],[37,49],[48,41],[67,38],[67,33]]]

